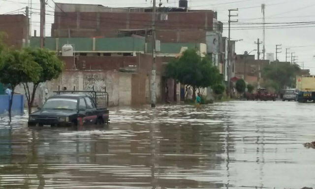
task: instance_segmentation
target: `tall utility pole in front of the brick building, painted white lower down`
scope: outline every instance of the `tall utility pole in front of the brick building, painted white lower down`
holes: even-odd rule
[[[152,8],[152,71],[151,71],[151,107],[156,107],[156,0],[153,0]]]

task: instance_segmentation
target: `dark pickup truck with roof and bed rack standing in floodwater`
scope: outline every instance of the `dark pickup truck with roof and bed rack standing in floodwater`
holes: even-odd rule
[[[77,126],[109,122],[108,108],[96,106],[96,99],[100,96],[97,94],[100,92],[87,92],[92,95],[64,93],[66,92],[57,92],[38,111],[32,113],[29,116],[29,126]],[[101,93],[107,96],[108,105],[108,94]]]

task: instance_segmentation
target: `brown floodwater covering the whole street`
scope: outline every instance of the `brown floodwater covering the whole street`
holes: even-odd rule
[[[1,119],[1,118],[0,118]],[[0,188],[315,187],[315,104],[117,108],[109,126],[0,120]]]

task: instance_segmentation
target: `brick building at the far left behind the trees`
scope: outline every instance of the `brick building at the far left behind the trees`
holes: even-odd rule
[[[4,43],[10,47],[22,48],[29,42],[29,18],[22,14],[0,15],[0,32]]]

